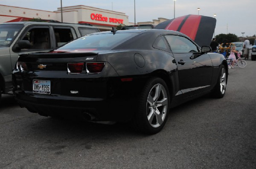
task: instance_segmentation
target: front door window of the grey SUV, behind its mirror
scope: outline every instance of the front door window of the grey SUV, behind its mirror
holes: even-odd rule
[[[30,49],[50,49],[49,28],[32,28],[22,40],[30,42]]]

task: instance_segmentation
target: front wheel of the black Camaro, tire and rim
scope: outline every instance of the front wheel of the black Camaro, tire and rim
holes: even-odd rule
[[[227,70],[224,65],[221,65],[220,71],[218,74],[217,83],[212,90],[212,96],[215,98],[223,98],[226,92],[227,86]]]

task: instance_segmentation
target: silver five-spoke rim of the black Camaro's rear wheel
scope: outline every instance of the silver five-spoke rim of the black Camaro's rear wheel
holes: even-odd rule
[[[168,95],[165,87],[161,84],[154,85],[147,100],[148,122],[152,127],[163,124],[168,110]]]

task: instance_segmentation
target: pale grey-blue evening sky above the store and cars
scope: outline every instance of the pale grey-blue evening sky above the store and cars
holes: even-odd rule
[[[1,5],[56,11],[61,0],[1,0]],[[112,5],[113,4],[113,5]],[[62,7],[84,5],[123,12],[134,23],[134,0],[62,0]],[[175,17],[198,14],[214,17],[215,35],[236,34],[241,37],[256,34],[256,0],[176,0]],[[159,17],[174,18],[174,0],[135,0],[136,22],[147,22]]]

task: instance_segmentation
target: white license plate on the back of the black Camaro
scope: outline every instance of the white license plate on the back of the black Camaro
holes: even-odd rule
[[[33,80],[33,93],[51,94],[51,81]]]

